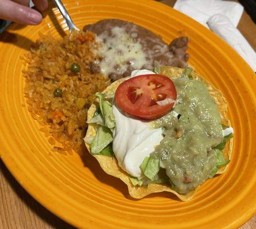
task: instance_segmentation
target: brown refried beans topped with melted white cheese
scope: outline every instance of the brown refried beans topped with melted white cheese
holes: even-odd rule
[[[98,50],[102,58],[91,63],[91,72],[101,72],[112,81],[130,76],[134,69],[153,69],[154,61],[187,66],[188,37],[178,37],[168,45],[152,31],[120,19],[104,19],[83,30],[95,33],[102,43]]]

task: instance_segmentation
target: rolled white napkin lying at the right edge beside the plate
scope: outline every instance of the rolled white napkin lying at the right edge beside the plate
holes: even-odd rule
[[[225,15],[216,14],[207,23],[210,29],[228,42],[256,72],[256,53],[231,21]]]

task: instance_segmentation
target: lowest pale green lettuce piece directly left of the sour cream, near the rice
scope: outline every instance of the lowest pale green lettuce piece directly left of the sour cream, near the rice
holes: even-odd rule
[[[91,143],[91,153],[99,154],[104,148],[113,141],[112,132],[109,128],[100,126],[94,140]]]

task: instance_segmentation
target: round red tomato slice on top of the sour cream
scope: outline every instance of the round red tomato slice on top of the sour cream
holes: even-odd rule
[[[171,99],[169,101],[176,100],[177,92],[172,80],[160,74],[130,78],[122,82],[115,92],[115,101],[119,108],[147,120],[162,117],[172,109],[174,101],[166,105],[157,104],[157,101],[166,98]]]

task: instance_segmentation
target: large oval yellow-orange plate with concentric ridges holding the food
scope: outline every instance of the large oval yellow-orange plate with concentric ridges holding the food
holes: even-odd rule
[[[121,18],[160,34],[166,42],[191,38],[189,63],[228,101],[235,130],[228,171],[203,184],[195,199],[169,193],[129,197],[122,181],[106,175],[94,157],[51,153],[24,98],[22,60],[38,32],[63,35],[53,8],[39,26],[11,25],[0,36],[0,155],[18,182],[42,205],[79,228],[237,228],[256,212],[256,79],[224,41],[185,15],[148,0],[65,0],[75,24]],[[53,5],[51,5],[53,7]],[[59,22],[58,22],[59,21]]]

